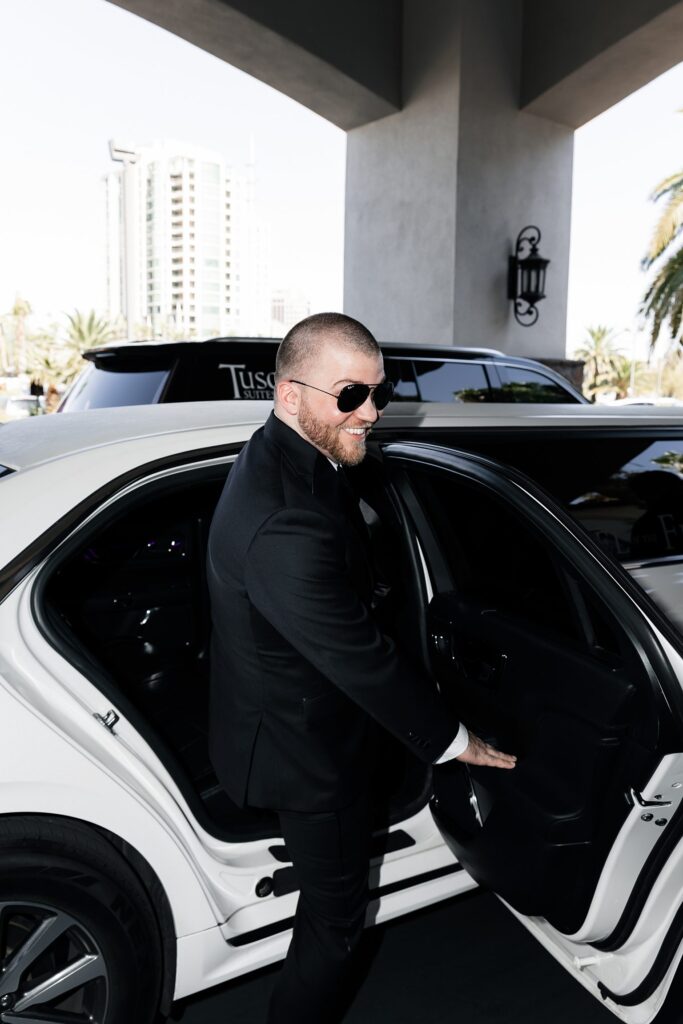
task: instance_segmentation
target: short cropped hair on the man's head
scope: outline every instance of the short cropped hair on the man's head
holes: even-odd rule
[[[326,340],[341,341],[366,355],[382,354],[368,328],[352,316],[313,313],[295,324],[280,343],[275,356],[275,382],[304,376]]]

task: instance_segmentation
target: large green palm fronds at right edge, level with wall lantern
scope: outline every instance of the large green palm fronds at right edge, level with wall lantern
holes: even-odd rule
[[[654,276],[643,296],[640,313],[651,322],[650,349],[664,324],[674,342],[681,340],[683,317],[683,248],[677,245],[683,229],[683,171],[670,174],[655,187],[650,199],[656,203],[667,200],[657,220],[649,249],[641,262],[644,270],[654,264]]]

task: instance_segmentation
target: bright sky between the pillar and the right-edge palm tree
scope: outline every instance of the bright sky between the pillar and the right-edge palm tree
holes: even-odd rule
[[[580,128],[574,136],[567,348],[587,327],[618,334],[624,351],[647,350],[637,309],[660,204],[650,195],[683,167],[683,65]],[[548,284],[550,273],[548,271]]]

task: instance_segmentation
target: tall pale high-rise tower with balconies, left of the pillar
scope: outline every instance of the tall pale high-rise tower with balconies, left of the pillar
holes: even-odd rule
[[[253,168],[239,172],[170,141],[126,153],[105,179],[110,315],[128,301],[135,333],[155,338],[267,334],[267,237]]]

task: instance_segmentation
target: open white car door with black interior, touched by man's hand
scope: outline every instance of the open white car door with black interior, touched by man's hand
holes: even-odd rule
[[[384,455],[428,569],[441,692],[518,757],[512,771],[436,767],[436,822],[474,879],[616,1016],[664,1021],[683,950],[675,634],[525,477],[434,446]]]

